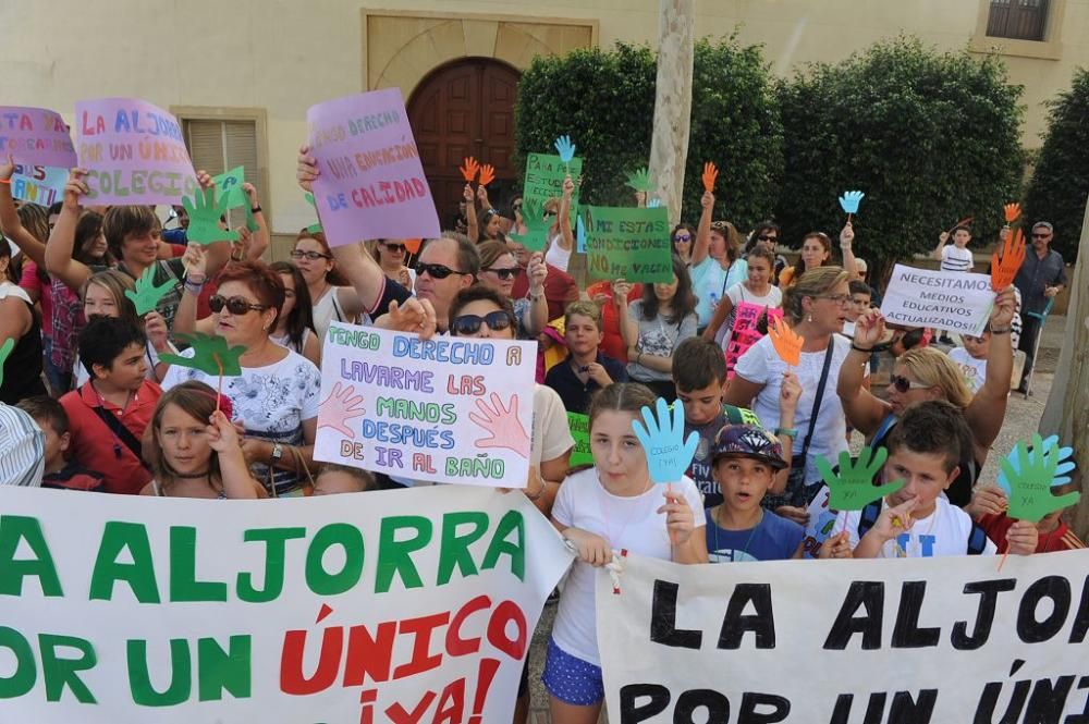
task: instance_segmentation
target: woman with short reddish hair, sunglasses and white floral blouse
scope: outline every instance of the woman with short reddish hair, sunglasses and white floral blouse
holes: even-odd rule
[[[195,320],[196,292],[186,285],[178,317],[189,328],[223,338],[229,347],[245,347],[238,360],[242,375],[222,378],[222,389],[235,419],[245,426],[246,463],[270,494],[301,494],[304,467],[313,465],[321,375],[311,361],[270,339],[284,305],[283,280],[260,261],[228,266],[209,299],[212,315],[200,322]],[[193,348],[182,353],[193,354]],[[189,380],[220,384],[218,375],[174,365],[162,389]]]

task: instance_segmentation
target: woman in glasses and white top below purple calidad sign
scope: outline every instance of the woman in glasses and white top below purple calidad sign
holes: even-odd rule
[[[332,249],[320,231],[304,229],[295,237],[291,261],[303,272],[306,287],[314,302],[314,329],[318,339],[326,339],[329,322],[358,323],[367,311],[355,289],[347,285],[337,271]]]

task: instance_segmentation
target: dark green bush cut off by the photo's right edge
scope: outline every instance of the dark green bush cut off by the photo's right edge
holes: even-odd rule
[[[1070,89],[1049,106],[1051,118],[1025,197],[1025,218],[1054,224],[1052,245],[1073,263],[1089,197],[1089,71],[1079,69]]]

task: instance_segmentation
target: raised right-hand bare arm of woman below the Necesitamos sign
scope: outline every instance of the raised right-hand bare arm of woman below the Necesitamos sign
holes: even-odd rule
[[[1007,287],[994,298],[991,310],[991,348],[987,353],[987,377],[983,386],[972,396],[964,410],[965,420],[971,428],[977,452],[990,449],[999,437],[1002,421],[1006,416],[1006,401],[1010,398],[1010,380],[1014,371],[1014,348],[1010,340],[1010,324],[1014,319],[1016,298],[1013,287]]]

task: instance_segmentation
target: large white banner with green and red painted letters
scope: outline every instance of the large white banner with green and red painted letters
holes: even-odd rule
[[[0,721],[510,722],[570,563],[521,493],[0,490]]]

